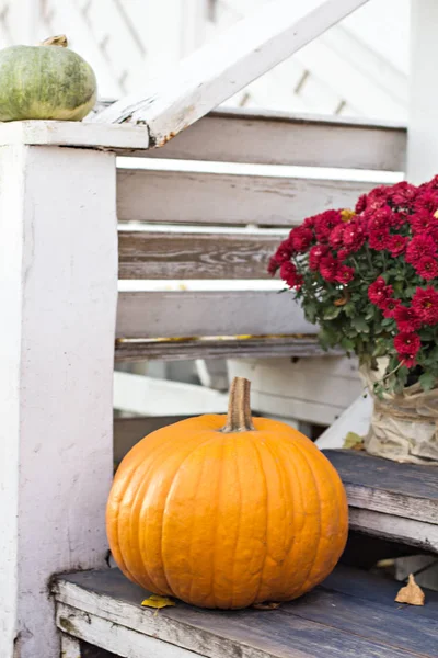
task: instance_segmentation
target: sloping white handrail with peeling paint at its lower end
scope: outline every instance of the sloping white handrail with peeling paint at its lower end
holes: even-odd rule
[[[141,123],[162,146],[367,0],[276,0],[92,118]]]

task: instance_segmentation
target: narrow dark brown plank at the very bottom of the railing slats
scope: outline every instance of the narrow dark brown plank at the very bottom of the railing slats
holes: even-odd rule
[[[124,340],[118,339],[115,360],[189,361],[194,359],[268,359],[272,356],[338,356],[341,350],[324,352],[312,336],[260,336],[195,340]]]

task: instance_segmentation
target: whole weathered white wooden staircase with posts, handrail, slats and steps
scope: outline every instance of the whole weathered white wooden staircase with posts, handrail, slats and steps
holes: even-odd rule
[[[103,658],[101,649],[124,658],[436,658],[436,597],[424,609],[394,608],[399,585],[367,572],[341,567],[274,611],[177,604],[155,614],[140,608],[143,592],[105,568],[114,356],[318,354],[315,327],[277,295],[262,263],[307,215],[348,207],[382,172],[404,170],[400,126],[209,114],[365,2],[276,0],[92,122],[0,126],[1,658],[58,658],[58,631],[64,658]],[[415,63],[425,66],[413,68],[414,182],[438,152],[428,150],[438,10],[427,0],[415,7]],[[278,166],[330,171],[296,177]],[[351,180],[339,171],[349,168],[376,175]],[[165,290],[171,281],[184,290]],[[328,456],[351,527],[437,551],[435,470]]]

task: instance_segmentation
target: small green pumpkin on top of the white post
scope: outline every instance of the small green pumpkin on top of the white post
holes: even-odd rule
[[[96,79],[65,36],[0,50],[0,121],[81,121],[94,106]]]

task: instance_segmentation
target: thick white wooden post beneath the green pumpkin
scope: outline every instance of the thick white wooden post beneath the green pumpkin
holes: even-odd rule
[[[105,566],[115,156],[1,137],[0,656],[59,658],[50,576]]]

